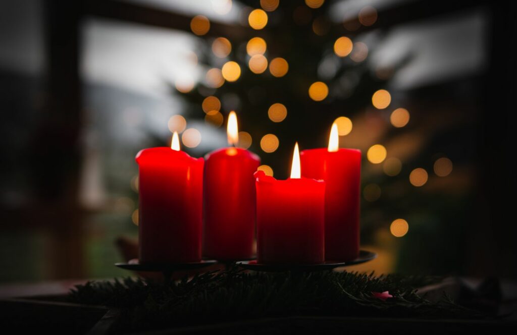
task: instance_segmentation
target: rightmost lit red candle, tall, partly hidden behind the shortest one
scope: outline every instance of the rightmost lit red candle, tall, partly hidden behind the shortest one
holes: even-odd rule
[[[351,261],[359,255],[361,151],[340,149],[334,123],[328,149],[303,150],[303,176],[325,180],[325,259]]]

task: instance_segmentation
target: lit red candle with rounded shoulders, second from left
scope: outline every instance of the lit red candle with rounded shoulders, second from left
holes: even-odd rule
[[[237,144],[237,117],[228,118],[228,141]],[[217,260],[254,255],[255,179],[260,158],[241,148],[206,155],[203,254]]]

